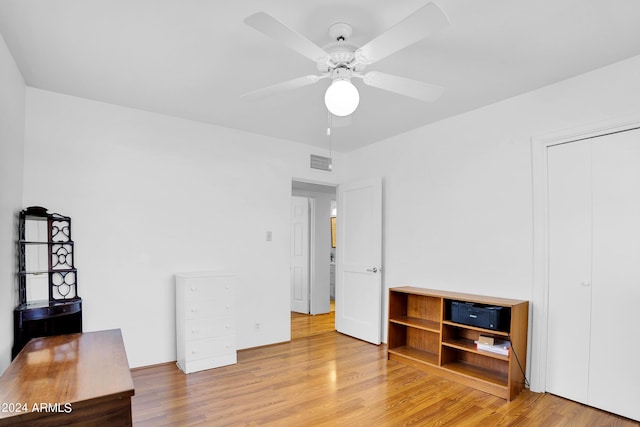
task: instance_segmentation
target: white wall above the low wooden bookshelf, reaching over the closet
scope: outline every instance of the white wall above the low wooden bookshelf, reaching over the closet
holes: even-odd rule
[[[384,180],[386,287],[532,300],[531,138],[640,112],[639,75],[640,56],[351,153],[349,179]]]

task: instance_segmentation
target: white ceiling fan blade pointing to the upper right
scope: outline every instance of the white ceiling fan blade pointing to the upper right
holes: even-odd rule
[[[449,18],[435,3],[428,3],[404,20],[356,50],[356,58],[371,64],[410,46],[449,25]]]

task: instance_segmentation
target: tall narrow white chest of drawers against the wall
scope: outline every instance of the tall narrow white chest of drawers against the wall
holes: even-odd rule
[[[178,367],[188,374],[236,363],[235,277],[176,274]]]

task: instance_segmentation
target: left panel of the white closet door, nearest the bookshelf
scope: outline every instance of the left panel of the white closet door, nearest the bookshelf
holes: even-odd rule
[[[548,151],[547,391],[586,403],[591,307],[591,143]]]

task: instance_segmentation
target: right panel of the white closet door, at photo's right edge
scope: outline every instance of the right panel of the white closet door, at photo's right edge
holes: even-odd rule
[[[640,130],[593,140],[589,404],[640,420]]]

